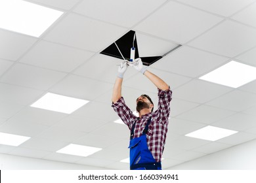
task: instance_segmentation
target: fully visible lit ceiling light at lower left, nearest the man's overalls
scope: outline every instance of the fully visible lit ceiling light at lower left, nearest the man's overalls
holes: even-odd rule
[[[91,154],[94,154],[95,152],[98,152],[102,150],[102,148],[95,148],[91,146],[82,146],[78,144],[69,144],[68,146],[58,150],[58,153],[62,154],[70,154],[74,156],[90,156]]]

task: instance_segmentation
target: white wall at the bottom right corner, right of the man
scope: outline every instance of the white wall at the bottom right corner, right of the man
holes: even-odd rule
[[[169,168],[177,170],[256,170],[256,140]]]

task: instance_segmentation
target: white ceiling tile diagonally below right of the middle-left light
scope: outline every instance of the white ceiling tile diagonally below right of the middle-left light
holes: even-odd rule
[[[92,118],[81,118],[80,116],[70,114],[66,116],[66,118],[60,120],[55,126],[89,133],[105,123],[105,121],[95,120]]]

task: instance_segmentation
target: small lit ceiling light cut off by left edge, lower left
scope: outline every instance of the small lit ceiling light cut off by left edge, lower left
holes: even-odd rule
[[[28,139],[30,138],[31,137],[0,132],[0,144],[5,144],[9,146],[19,146],[23,142],[28,141]]]

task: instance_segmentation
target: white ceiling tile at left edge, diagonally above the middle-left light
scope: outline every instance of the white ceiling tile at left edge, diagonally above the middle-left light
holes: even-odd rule
[[[64,76],[66,76],[65,73],[17,63],[1,78],[1,81],[39,90],[47,90],[64,78]]]

